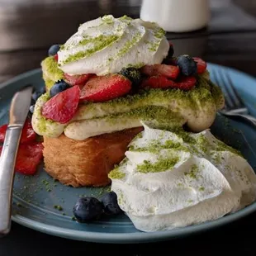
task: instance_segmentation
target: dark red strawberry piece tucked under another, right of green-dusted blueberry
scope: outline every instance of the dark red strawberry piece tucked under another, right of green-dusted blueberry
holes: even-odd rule
[[[173,80],[169,80],[164,75],[154,76],[145,79],[144,82],[141,83],[142,88],[172,88],[175,82]]]

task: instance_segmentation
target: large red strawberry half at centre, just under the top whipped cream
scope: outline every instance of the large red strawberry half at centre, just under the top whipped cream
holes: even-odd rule
[[[121,74],[91,78],[81,91],[80,99],[89,102],[106,102],[130,92],[131,82]]]

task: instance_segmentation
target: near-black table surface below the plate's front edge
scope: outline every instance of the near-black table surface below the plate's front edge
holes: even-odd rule
[[[255,255],[256,215],[216,230],[183,239],[151,244],[93,244],[62,239],[17,224],[12,233],[0,239],[1,256],[59,255]]]

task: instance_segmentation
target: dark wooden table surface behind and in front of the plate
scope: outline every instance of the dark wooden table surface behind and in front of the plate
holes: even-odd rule
[[[239,1],[256,17],[254,1]],[[245,4],[247,2],[247,4]],[[40,67],[52,44],[64,43],[80,23],[111,13],[116,17],[139,17],[140,1],[0,1],[0,82]],[[240,22],[240,21],[237,21]],[[235,24],[234,24],[235,25]],[[223,24],[225,28],[225,24]],[[201,56],[206,61],[233,67],[256,76],[256,29],[211,30],[183,35],[168,34],[174,49]],[[186,51],[186,52],[185,52]],[[12,224],[12,232],[0,239],[0,256],[22,255],[256,255],[254,235],[256,214],[216,230],[185,239],[157,244],[90,244],[61,239]]]

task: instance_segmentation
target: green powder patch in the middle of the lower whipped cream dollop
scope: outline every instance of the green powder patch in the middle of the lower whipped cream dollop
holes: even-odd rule
[[[156,163],[150,163],[145,160],[144,164],[137,165],[137,171],[140,173],[160,173],[173,168],[178,161],[178,156],[169,156],[168,159],[159,159]]]

